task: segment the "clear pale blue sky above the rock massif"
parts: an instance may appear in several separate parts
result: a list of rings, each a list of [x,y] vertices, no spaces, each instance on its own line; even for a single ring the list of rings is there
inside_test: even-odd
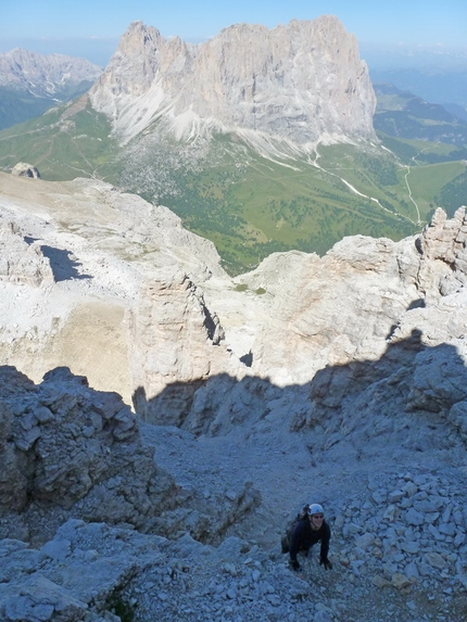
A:
[[[467,50],[466,0],[0,0],[0,52],[59,52],[103,65],[137,20],[164,37],[201,41],[239,22],[273,28],[325,14],[337,15],[361,43]]]

